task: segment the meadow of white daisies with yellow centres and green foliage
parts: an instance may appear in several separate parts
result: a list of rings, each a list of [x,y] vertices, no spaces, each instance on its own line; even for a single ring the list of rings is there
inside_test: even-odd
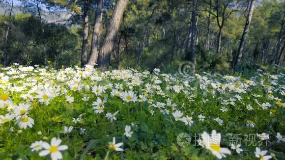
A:
[[[285,74],[261,70],[14,65],[0,72],[0,159],[284,160],[284,97]]]

